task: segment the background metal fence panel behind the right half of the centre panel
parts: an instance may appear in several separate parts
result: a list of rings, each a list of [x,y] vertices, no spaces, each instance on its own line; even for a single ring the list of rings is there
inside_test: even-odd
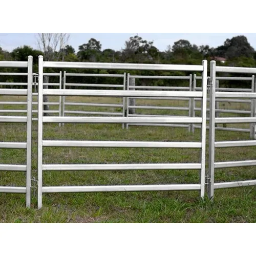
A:
[[[175,86],[136,86],[136,81],[135,79],[168,79],[168,80],[174,80],[174,79],[179,79],[179,80],[188,80],[189,86],[188,87],[175,87]],[[166,90],[166,91],[191,91],[192,89],[192,81],[193,81],[193,76],[142,76],[142,75],[130,75],[127,74],[127,90]],[[131,85],[133,83],[134,85]],[[163,100],[164,98],[156,98],[156,97],[141,97],[141,98],[136,98],[136,99],[161,99]],[[169,98],[165,98],[166,100],[169,100]],[[178,111],[185,111],[188,113],[187,116],[191,117],[192,112],[191,112],[191,105],[193,104],[193,98],[171,98],[171,100],[185,100],[188,101],[188,106],[187,107],[174,107],[174,106],[153,106],[153,105],[136,105],[135,99],[134,98],[127,98],[126,99],[126,109],[127,109],[127,116],[159,116],[159,115],[143,115],[143,114],[130,114],[130,110],[136,110],[136,109],[144,109],[144,110],[178,110]],[[133,103],[131,103],[133,101]],[[166,115],[167,116],[167,115]],[[170,115],[169,115],[170,116]],[[146,126],[161,126],[161,124],[154,124],[154,123],[149,123],[149,124],[142,124],[142,123],[134,123],[126,124],[126,129],[129,128],[129,125],[146,125]],[[164,126],[172,126],[172,127],[188,127],[188,131],[191,131],[191,127],[193,127],[191,124],[164,124]]]

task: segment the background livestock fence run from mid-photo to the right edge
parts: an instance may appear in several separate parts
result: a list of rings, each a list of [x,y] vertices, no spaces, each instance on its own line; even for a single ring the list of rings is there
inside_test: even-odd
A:
[[[135,79],[169,79],[169,80],[177,80],[177,79],[183,79],[183,80],[189,80],[189,86],[188,87],[177,87],[177,86],[137,86]],[[200,91],[202,90],[202,87],[197,87],[197,80],[202,80],[201,76],[189,75],[189,76],[141,76],[141,75],[130,75],[127,74],[127,90],[184,90],[184,91]],[[249,88],[219,88],[219,81],[249,81],[250,82],[250,89]],[[217,91],[227,91],[227,92],[255,92],[255,76],[252,75],[251,77],[217,77],[216,79],[216,90]],[[156,99],[159,98],[153,97],[153,98],[146,98],[146,97],[138,97],[137,99]],[[127,98],[126,105],[127,109],[127,116],[137,116],[137,117],[153,117],[153,116],[161,116],[160,114],[138,114],[135,113],[135,110],[168,110],[168,111],[176,111],[176,113],[180,113],[181,111],[186,113],[186,116],[189,117],[195,117],[197,116],[197,112],[201,112],[201,106],[197,105],[197,103],[201,99],[199,98],[165,98],[166,100],[171,102],[177,102],[178,104],[180,101],[188,101],[188,105],[184,106],[177,106],[177,103],[175,106],[159,106],[159,105],[152,105],[150,103],[139,105],[136,104],[136,100],[134,98]],[[207,98],[207,102],[209,102],[209,98]],[[226,103],[221,106],[220,102]],[[169,103],[169,102],[168,102]],[[230,108],[227,108],[227,105],[230,104]],[[237,104],[237,105],[236,105]],[[242,106],[241,106],[242,105]],[[254,107],[253,107],[254,106]],[[238,109],[238,108],[242,108]],[[245,100],[245,99],[216,99],[216,117],[220,116],[220,113],[225,113],[228,115],[232,114],[238,114],[238,115],[248,115],[253,116],[253,113],[255,112],[255,104],[253,100]],[[165,115],[167,116],[167,115]],[[168,114],[168,116],[172,116]],[[199,115],[200,116],[200,115]],[[209,108],[207,108],[207,121],[209,121]],[[174,126],[174,127],[188,127],[188,131],[195,133],[195,129],[200,129],[200,125],[197,124],[126,124],[126,128],[129,127],[129,125],[151,125],[151,126]],[[209,125],[206,126],[206,129],[209,129]],[[219,124],[216,125],[216,130],[223,130],[223,131],[233,131],[233,132],[248,132],[250,133],[250,138],[254,138],[255,136],[255,127],[254,124],[251,124],[249,128],[247,127],[226,127],[226,124],[221,127]]]

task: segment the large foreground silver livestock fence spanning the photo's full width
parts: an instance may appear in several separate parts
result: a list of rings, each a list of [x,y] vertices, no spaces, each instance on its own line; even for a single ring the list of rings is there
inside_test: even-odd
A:
[[[207,193],[209,198],[214,197],[214,190],[220,188],[238,187],[238,186],[252,186],[256,185],[256,180],[245,180],[245,181],[227,181],[227,182],[216,182],[215,181],[215,170],[222,168],[234,168],[234,167],[244,167],[244,166],[254,166],[256,165],[256,160],[243,160],[243,161],[225,161],[216,162],[215,153],[216,148],[227,148],[227,147],[246,147],[246,146],[256,146],[255,140],[247,141],[217,141],[215,131],[219,128],[218,124],[241,124],[249,123],[251,134],[255,134],[255,123],[256,123],[256,113],[255,113],[255,79],[256,68],[234,68],[234,67],[219,67],[216,66],[215,61],[210,63],[210,77],[207,77],[207,61],[203,60],[202,65],[150,65],[150,64],[131,64],[131,63],[87,63],[87,62],[54,62],[54,61],[44,61],[42,56],[39,56],[39,70],[38,70],[38,83],[33,82],[33,71],[32,71],[32,57],[29,56],[28,61],[0,61],[0,68],[24,68],[27,69],[27,82],[24,84],[26,89],[16,89],[16,88],[1,88],[0,95],[8,96],[27,96],[26,106],[27,110],[24,112],[26,116],[0,116],[1,123],[26,123],[27,124],[27,141],[26,142],[8,142],[1,141],[0,148],[12,148],[12,149],[23,149],[26,150],[26,164],[2,164],[0,156],[0,171],[19,171],[26,172],[26,186],[15,187],[15,186],[0,186],[1,193],[22,193],[26,194],[26,205],[30,207],[31,202],[31,143],[32,143],[32,101],[33,101],[33,86],[38,85],[38,130],[37,132],[37,201],[38,208],[42,207],[43,194],[48,193],[86,193],[86,192],[106,192],[106,191],[160,191],[160,190],[198,190],[200,191],[200,196],[203,198],[205,195],[205,187],[207,188]],[[57,69],[102,69],[102,70],[159,70],[159,71],[185,71],[185,72],[201,72],[202,76],[198,79],[201,80],[202,87],[196,87],[197,77],[194,75],[194,81],[192,90],[185,88],[179,88],[179,90],[163,90],[153,88],[145,88],[147,90],[131,90],[139,89],[135,85],[129,84],[131,79],[136,79],[136,77],[127,74],[127,90],[124,90],[124,85],[121,84],[122,88],[113,88],[119,90],[84,90],[84,89],[62,89],[59,84],[54,84],[55,88],[49,89],[47,86],[50,85],[44,82],[44,77],[49,76],[49,73],[44,73],[44,68],[57,68]],[[236,73],[236,74],[247,74],[251,77],[243,80],[251,82],[251,89],[233,91],[231,88],[222,90],[218,88],[218,81],[221,79],[226,79],[227,77],[221,78],[216,76],[216,74],[223,73]],[[25,74],[25,73],[24,73]],[[60,73],[61,75],[61,73]],[[125,80],[126,73],[123,74],[123,81]],[[64,75],[65,77],[65,75]],[[188,79],[188,78],[186,78]],[[189,81],[191,76],[189,76]],[[230,78],[228,78],[230,79]],[[238,78],[232,78],[238,79]],[[242,78],[239,78],[242,79]],[[60,79],[61,80],[61,79]],[[124,82],[125,84],[125,82]],[[4,84],[5,86],[5,84]],[[7,84],[10,86],[10,84]],[[17,84],[15,85],[17,86]],[[67,86],[67,83],[66,83]],[[68,87],[68,86],[67,86]],[[131,88],[132,87],[132,88]],[[135,87],[135,88],[134,88]],[[216,88],[217,87],[217,88]],[[70,87],[72,88],[72,86]],[[210,88],[209,96],[207,98],[207,88]],[[172,88],[173,89],[173,88]],[[221,90],[220,90],[221,89]],[[119,116],[96,116],[97,114],[92,113],[93,116],[45,116],[44,112],[44,97],[45,96],[55,96],[58,99],[61,97],[112,97],[119,98],[122,102],[122,111],[127,107],[127,115]],[[129,104],[130,99],[151,99],[158,98],[161,100],[168,99],[190,99],[191,111],[189,112],[191,116],[133,116],[129,114]],[[195,106],[195,101],[201,101],[201,109],[196,106],[195,111],[198,111],[197,116],[193,107]],[[236,112],[237,114],[249,114],[249,117],[220,117],[217,114],[221,113],[218,102],[220,100],[236,100],[236,102],[249,103],[251,111],[250,112]],[[61,100],[62,101],[62,100]],[[207,101],[209,101],[209,106],[207,107]],[[65,100],[63,100],[65,102]],[[69,102],[69,101],[68,101]],[[128,103],[127,103],[128,102]],[[232,102],[232,101],[230,101]],[[58,102],[57,102],[58,103]],[[90,104],[90,103],[89,103]],[[207,128],[207,110],[209,111],[209,165],[206,172],[206,128]],[[187,111],[187,109],[186,109]],[[237,110],[236,110],[237,111]],[[3,112],[2,112],[3,113]],[[9,112],[8,112],[9,113]],[[14,112],[16,113],[16,112]],[[227,112],[230,114],[230,112]],[[73,114],[73,113],[71,113]],[[232,113],[231,113],[232,114]],[[43,125],[46,123],[115,123],[115,124],[142,124],[142,125],[187,125],[190,124],[191,129],[201,128],[201,138],[200,141],[187,142],[162,142],[162,141],[87,141],[87,140],[47,140],[45,139],[43,130]],[[226,130],[231,131],[231,130]],[[238,130],[233,130],[238,132]],[[75,135],[74,130],[74,135]],[[240,132],[240,131],[239,131]],[[248,131],[246,131],[248,132]],[[44,138],[44,139],[43,139]],[[201,150],[201,159],[198,163],[124,163],[124,164],[44,164],[44,147],[96,147],[96,148],[197,148]],[[11,159],[12,160],[12,159]],[[99,186],[44,186],[43,185],[43,172],[47,171],[75,171],[75,170],[199,170],[199,183],[196,184],[156,184],[156,185],[99,185]],[[2,184],[1,184],[2,185]]]

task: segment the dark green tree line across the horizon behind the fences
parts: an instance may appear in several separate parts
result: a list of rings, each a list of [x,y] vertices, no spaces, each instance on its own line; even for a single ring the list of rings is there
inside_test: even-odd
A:
[[[50,34],[50,33],[49,33]],[[57,37],[56,37],[57,38]],[[201,65],[203,59],[209,62],[216,59],[218,66],[233,66],[233,67],[255,67],[256,66],[256,51],[249,44],[247,38],[243,35],[226,39],[224,44],[212,48],[209,45],[192,45],[188,40],[178,40],[173,46],[167,46],[165,51],[160,51],[154,46],[153,41],[144,40],[136,35],[130,37],[124,42],[124,48],[115,51],[113,49],[102,49],[100,41],[91,38],[87,43],[79,46],[78,51],[71,45],[63,46],[60,49],[51,47],[44,43],[44,48],[41,50],[33,49],[30,46],[17,47],[11,52],[8,52],[0,47],[0,60],[16,60],[26,61],[29,55],[33,56],[34,72],[38,69],[38,55],[43,55],[46,60],[52,61],[74,61],[74,62],[119,62],[119,63],[155,63],[155,64],[184,64],[184,65]],[[49,57],[50,56],[50,57]],[[50,59],[49,59],[50,58]],[[220,60],[225,60],[221,62]],[[45,72],[64,71],[61,69],[46,69]],[[122,74],[125,70],[81,70],[69,69],[69,73],[102,73],[102,74]],[[22,69],[0,69],[0,72],[24,72]],[[167,71],[129,71],[133,75],[165,75],[165,76],[188,76],[187,72],[167,72]],[[201,75],[200,73],[196,73]],[[223,74],[228,76],[228,74]],[[232,74],[232,76],[239,76]],[[245,75],[243,75],[245,76]],[[249,75],[247,75],[249,76]],[[4,82],[23,82],[26,77],[10,77],[1,76],[0,81]],[[105,77],[68,77],[67,82],[74,83],[117,83],[122,81],[118,78]],[[50,82],[57,82],[58,78],[51,77]],[[136,85],[165,86],[173,84],[168,80],[136,80]],[[187,81],[177,80],[176,86],[184,86]],[[240,86],[250,87],[248,82],[231,81],[225,82],[225,86]],[[188,86],[188,84],[186,84]]]

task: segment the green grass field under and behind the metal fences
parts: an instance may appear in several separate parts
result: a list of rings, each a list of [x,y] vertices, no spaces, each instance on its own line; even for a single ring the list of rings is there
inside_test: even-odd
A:
[[[17,99],[18,98],[18,99]],[[82,99],[82,100],[81,100]],[[24,97],[0,97],[0,101],[26,101]],[[51,98],[57,101],[58,97]],[[78,102],[121,103],[121,99],[73,97]],[[71,101],[67,97],[66,101]],[[186,101],[137,100],[138,105],[188,105]],[[223,103],[220,103],[220,105]],[[18,106],[1,105],[3,109]],[[35,106],[34,106],[35,107]],[[226,109],[249,110],[248,104],[226,104]],[[69,110],[112,111],[111,108],[69,106]],[[26,109],[20,106],[19,109]],[[58,106],[50,106],[50,110]],[[121,109],[117,111],[121,112]],[[137,110],[136,114],[187,115],[185,111]],[[197,113],[199,115],[200,113]],[[1,114],[4,115],[4,114]],[[7,114],[5,114],[7,115]],[[17,114],[12,114],[17,115]],[[222,116],[227,116],[223,115]],[[232,115],[236,116],[236,115]],[[238,115],[237,115],[238,116]],[[242,116],[242,115],[240,115]],[[230,125],[228,125],[230,126]],[[234,127],[247,127],[248,124]],[[37,124],[33,122],[32,177],[37,177]],[[129,126],[121,124],[44,125],[44,139],[123,140],[123,141],[200,141],[200,130],[187,128]],[[249,133],[217,131],[216,140],[248,140]],[[208,140],[208,132],[207,132]],[[26,125],[0,124],[0,141],[26,141]],[[255,147],[218,148],[216,161],[255,159]],[[207,153],[208,154],[208,148]],[[208,155],[206,156],[208,159]],[[0,163],[25,164],[25,150],[0,150]],[[200,150],[150,148],[44,148],[44,163],[186,163],[200,162]],[[255,167],[217,169],[215,180],[255,179]],[[0,186],[25,186],[24,173],[0,172]],[[44,186],[121,185],[199,183],[198,170],[45,172]],[[3,223],[252,223],[256,221],[256,189],[241,187],[215,190],[215,200],[201,200],[198,191],[156,191],[131,193],[44,194],[43,207],[37,210],[36,190],[32,207],[27,209],[25,195],[0,194],[0,222]]]

